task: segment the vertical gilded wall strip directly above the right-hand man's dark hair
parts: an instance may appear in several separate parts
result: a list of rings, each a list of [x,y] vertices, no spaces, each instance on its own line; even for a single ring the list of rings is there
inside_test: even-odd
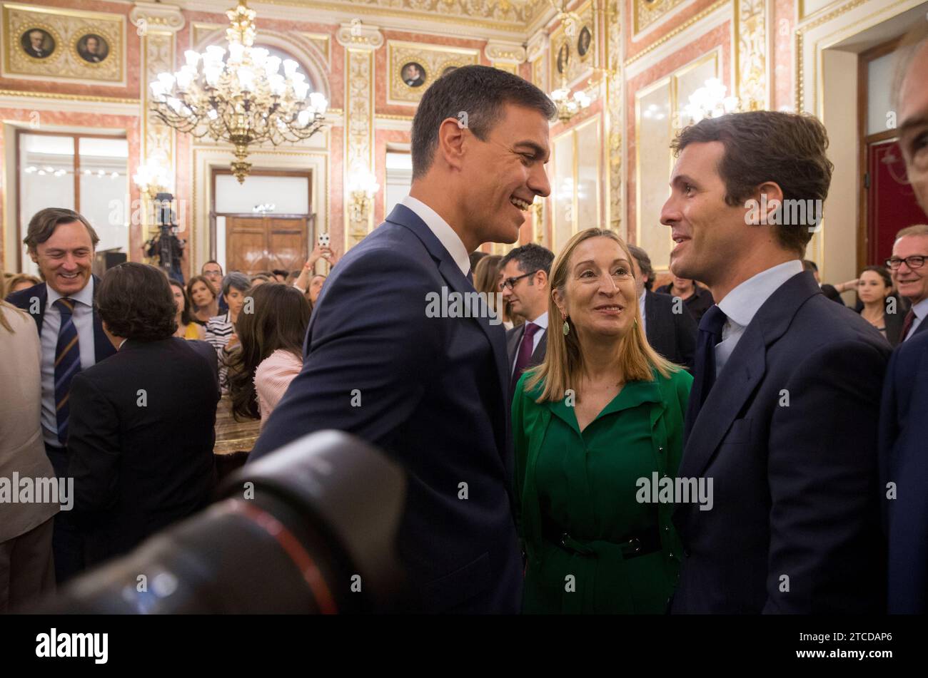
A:
[[[735,0],[736,93],[742,110],[764,110],[767,96],[767,3]]]

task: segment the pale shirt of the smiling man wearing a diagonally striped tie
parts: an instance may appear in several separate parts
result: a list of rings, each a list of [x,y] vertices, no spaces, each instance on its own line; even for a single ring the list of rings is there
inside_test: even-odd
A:
[[[58,418],[55,409],[55,353],[58,350],[58,329],[61,327],[61,313],[55,306],[64,295],[45,283],[48,300],[45,303],[45,317],[42,320],[42,434],[45,443],[60,447],[58,441]],[[84,285],[76,295],[69,295],[74,300],[74,328],[77,330],[77,343],[81,350],[81,370],[92,367],[97,362],[97,350],[94,345],[94,279]]]

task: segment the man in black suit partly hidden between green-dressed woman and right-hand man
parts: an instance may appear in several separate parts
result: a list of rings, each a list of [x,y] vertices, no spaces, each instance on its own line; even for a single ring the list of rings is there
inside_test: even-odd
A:
[[[671,295],[651,292],[654,269],[651,257],[640,247],[628,245],[638,286],[638,307],[648,343],[664,358],[693,368],[693,349],[696,347],[696,321],[683,300],[675,301]]]

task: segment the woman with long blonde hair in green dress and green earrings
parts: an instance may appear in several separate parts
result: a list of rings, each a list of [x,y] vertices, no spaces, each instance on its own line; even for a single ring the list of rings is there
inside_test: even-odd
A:
[[[651,487],[677,473],[692,377],[648,345],[631,260],[588,229],[552,265],[547,355],[512,401],[524,612],[662,613],[677,583]]]

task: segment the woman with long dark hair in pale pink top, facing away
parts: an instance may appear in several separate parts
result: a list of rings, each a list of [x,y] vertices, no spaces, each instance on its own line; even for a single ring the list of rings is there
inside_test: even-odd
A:
[[[267,284],[251,290],[253,313],[239,317],[241,350],[229,363],[229,393],[235,418],[261,419],[277,407],[293,378],[303,369],[303,338],[310,308],[290,285]]]

